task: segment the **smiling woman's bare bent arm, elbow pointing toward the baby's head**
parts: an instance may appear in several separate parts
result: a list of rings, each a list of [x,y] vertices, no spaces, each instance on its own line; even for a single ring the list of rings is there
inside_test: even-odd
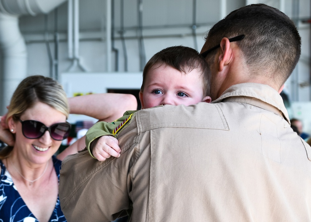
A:
[[[68,98],[70,113],[91,116],[100,121],[113,121],[126,110],[137,109],[137,100],[130,94],[105,93]],[[85,136],[67,147],[57,158],[63,160],[67,155],[77,153],[86,147]],[[118,149],[117,149],[118,150]],[[107,150],[109,155],[118,156],[115,150]]]

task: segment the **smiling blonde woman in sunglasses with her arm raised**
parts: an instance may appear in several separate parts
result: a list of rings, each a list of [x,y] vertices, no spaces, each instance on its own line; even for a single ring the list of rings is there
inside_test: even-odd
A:
[[[82,137],[54,155],[70,131],[66,122],[69,107],[70,113],[113,121],[126,110],[137,109],[137,102],[127,94],[93,94],[67,100],[62,86],[51,78],[24,79],[0,123],[0,140],[9,145],[0,151],[3,221],[66,221],[58,198],[59,167],[68,154],[85,147]],[[107,152],[107,157],[119,155],[114,150]]]

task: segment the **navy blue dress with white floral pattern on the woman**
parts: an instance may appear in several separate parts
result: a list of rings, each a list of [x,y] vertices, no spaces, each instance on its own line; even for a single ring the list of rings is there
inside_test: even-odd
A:
[[[58,176],[62,162],[52,156],[54,168]],[[39,222],[26,206],[20,194],[14,186],[10,173],[0,160],[0,222]],[[65,222],[65,216],[60,208],[59,197],[57,198],[54,211],[49,222]]]

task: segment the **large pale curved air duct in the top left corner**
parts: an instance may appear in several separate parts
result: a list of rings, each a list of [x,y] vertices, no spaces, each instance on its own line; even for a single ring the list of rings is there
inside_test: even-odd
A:
[[[19,82],[27,76],[27,51],[19,30],[21,15],[49,13],[66,0],[0,0],[0,50],[2,53],[1,113]]]

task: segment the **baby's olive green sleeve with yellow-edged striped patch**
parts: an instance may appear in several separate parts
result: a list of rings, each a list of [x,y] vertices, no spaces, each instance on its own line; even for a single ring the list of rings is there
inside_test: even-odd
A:
[[[85,144],[86,148],[89,151],[89,154],[95,158],[91,152],[90,145],[91,143],[101,137],[101,136],[114,136],[116,138],[116,132],[114,133],[114,130],[120,126],[120,124],[124,123],[125,120],[127,120],[135,111],[126,111],[124,115],[115,120],[112,123],[107,122],[98,122],[95,123],[87,132],[86,132],[86,139]],[[95,158],[96,159],[96,158]]]

